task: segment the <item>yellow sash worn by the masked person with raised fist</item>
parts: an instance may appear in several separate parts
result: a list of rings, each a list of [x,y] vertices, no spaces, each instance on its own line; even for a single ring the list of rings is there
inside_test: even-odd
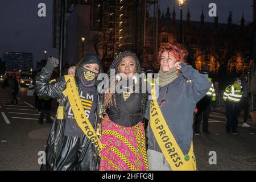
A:
[[[84,132],[86,137],[89,138],[90,142],[94,144],[97,148],[98,155],[101,155],[102,143],[95,133],[92,124],[84,113],[84,108],[82,107],[82,101],[79,96],[79,91],[77,90],[75,77],[65,75],[65,80],[67,82],[67,88],[63,91],[64,96],[68,96],[69,104],[71,105],[73,114],[75,115],[77,125]]]

